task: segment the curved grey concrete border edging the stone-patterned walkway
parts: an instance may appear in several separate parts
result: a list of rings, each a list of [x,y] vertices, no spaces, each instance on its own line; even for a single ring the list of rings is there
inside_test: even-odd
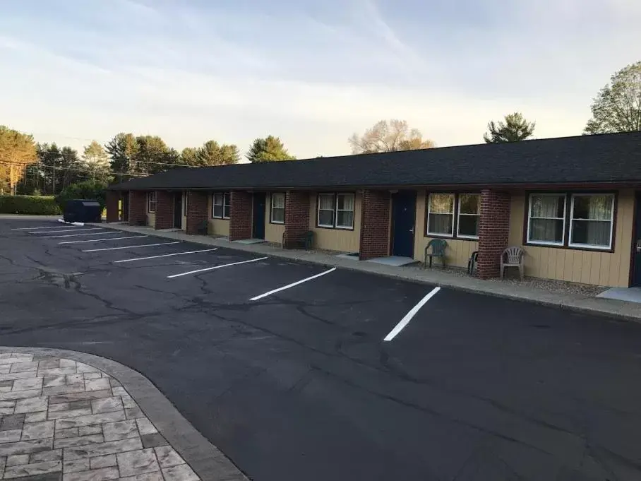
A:
[[[131,394],[164,439],[191,465],[203,481],[248,481],[248,478],[224,454],[200,434],[174,408],[143,374],[112,361],[85,352],[50,348],[0,347],[0,352],[24,352],[34,355],[64,357],[90,366],[117,379]]]

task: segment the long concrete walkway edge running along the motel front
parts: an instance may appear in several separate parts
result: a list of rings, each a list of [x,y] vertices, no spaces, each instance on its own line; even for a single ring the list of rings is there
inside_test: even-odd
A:
[[[585,297],[582,295],[557,294],[546,292],[544,290],[534,290],[527,287],[480,280],[477,278],[464,278],[448,273],[439,273],[435,270],[404,271],[402,268],[383,266],[376,263],[359,262],[350,259],[341,259],[326,254],[316,254],[306,251],[284,251],[265,244],[236,244],[229,242],[227,239],[188,235],[184,232],[163,232],[153,230],[150,227],[134,227],[124,224],[104,223],[93,225],[125,232],[138,232],[140,234],[148,234],[166,239],[193,242],[194,244],[213,245],[217,247],[224,247],[226,249],[234,249],[236,251],[268,255],[279,259],[289,259],[290,261],[313,263],[319,266],[339,267],[349,271],[381,275],[413,283],[440,285],[441,287],[448,287],[448,289],[452,290],[489,295],[492,297],[502,297],[504,299],[520,302],[530,302],[541,306],[580,312],[581,314],[606,316],[622,321],[641,322],[641,305],[634,304],[632,302]]]

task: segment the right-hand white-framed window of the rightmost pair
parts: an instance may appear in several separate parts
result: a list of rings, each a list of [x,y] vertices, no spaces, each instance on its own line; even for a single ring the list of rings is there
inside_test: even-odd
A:
[[[572,194],[570,247],[611,249],[613,194]]]

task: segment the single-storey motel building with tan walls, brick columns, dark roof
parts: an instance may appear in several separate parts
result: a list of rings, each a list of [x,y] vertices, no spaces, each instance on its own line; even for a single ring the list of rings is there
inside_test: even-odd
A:
[[[169,170],[115,184],[107,222],[424,260],[478,252],[499,275],[506,247],[525,275],[641,286],[641,132]]]

